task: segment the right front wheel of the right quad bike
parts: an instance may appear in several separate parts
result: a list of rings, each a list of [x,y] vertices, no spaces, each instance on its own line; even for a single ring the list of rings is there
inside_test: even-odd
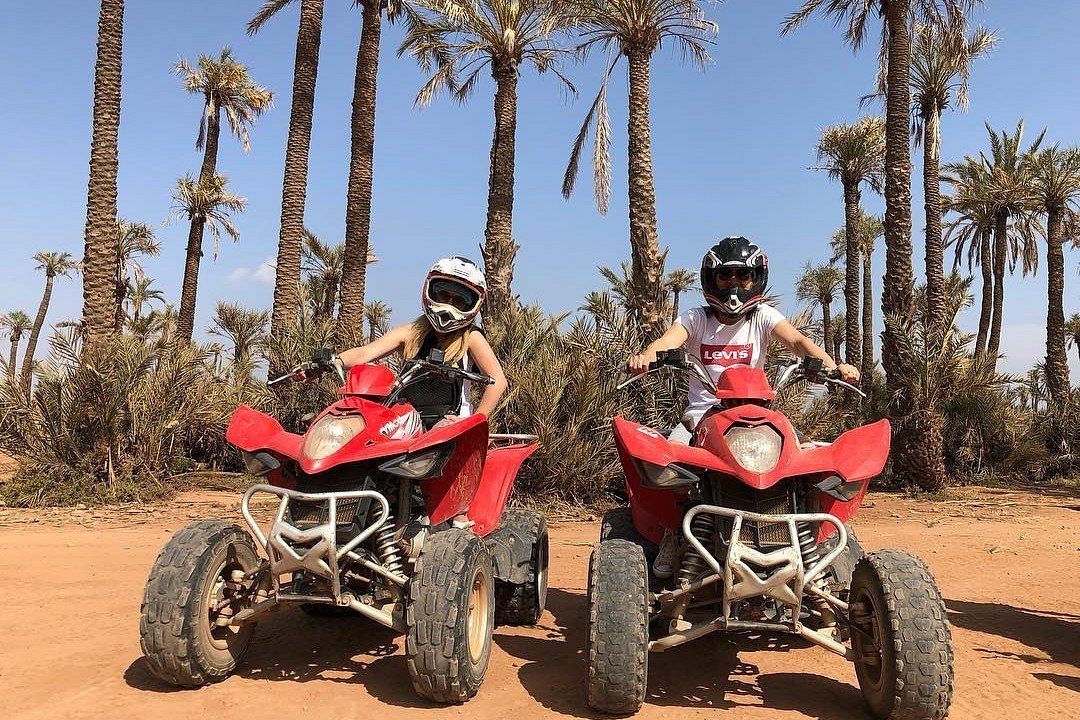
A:
[[[941,720],[953,701],[953,635],[930,570],[900,551],[870,553],[851,580],[855,675],[878,720]]]

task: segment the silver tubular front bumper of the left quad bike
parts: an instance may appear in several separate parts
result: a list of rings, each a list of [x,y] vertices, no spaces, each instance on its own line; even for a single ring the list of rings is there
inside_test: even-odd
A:
[[[252,514],[252,498],[256,494],[271,494],[280,499],[278,510],[264,532],[259,522]],[[379,505],[381,513],[378,519],[363,527],[352,539],[338,544],[339,506],[347,501],[368,500]],[[286,519],[289,502],[325,504],[326,521],[308,527],[297,527]],[[364,602],[341,587],[341,567],[346,563],[360,565],[370,572],[381,575],[392,585],[404,587],[408,579],[387,569],[383,565],[364,557],[357,548],[380,530],[390,520],[390,503],[387,498],[375,490],[349,490],[341,492],[299,492],[273,485],[254,485],[244,493],[240,503],[240,512],[248,529],[259,546],[266,553],[271,586],[270,599],[253,606],[235,619],[232,624],[251,620],[252,615],[261,614],[283,602],[302,602],[338,606],[351,608],[360,614],[374,620],[380,625],[405,631],[404,613],[400,602],[389,602],[379,607],[373,602]],[[292,590],[281,584],[281,576],[295,572],[306,572],[327,581],[328,595],[308,595]]]

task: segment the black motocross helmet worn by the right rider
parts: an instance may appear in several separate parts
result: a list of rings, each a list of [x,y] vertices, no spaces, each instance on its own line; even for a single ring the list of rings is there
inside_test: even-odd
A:
[[[743,289],[740,284],[719,286],[719,277],[733,270],[742,271],[740,280],[747,276],[753,280],[750,288]],[[769,258],[745,237],[725,237],[701,259],[701,290],[710,307],[724,318],[739,320],[748,315],[765,298],[768,282]]]

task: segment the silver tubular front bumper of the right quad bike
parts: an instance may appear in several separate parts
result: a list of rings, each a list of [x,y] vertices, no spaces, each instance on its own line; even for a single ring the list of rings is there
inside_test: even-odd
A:
[[[718,559],[699,538],[691,526],[699,515],[730,520],[730,532],[726,539],[727,554]],[[788,542],[770,552],[761,552],[743,541],[743,524],[753,521],[758,528],[782,526],[786,528]],[[836,528],[837,541],[832,549],[815,554],[815,559],[807,567],[804,551],[799,545],[799,526],[826,522]],[[692,582],[683,581],[673,590],[664,590],[656,596],[662,615],[672,619],[670,631],[664,637],[649,642],[649,650],[662,652],[694,638],[716,630],[780,631],[798,635],[814,644],[852,660],[852,650],[837,640],[836,625],[823,629],[807,627],[800,622],[805,600],[812,599],[816,608],[826,608],[846,615],[848,603],[828,592],[823,581],[824,573],[847,547],[848,532],[834,515],[828,513],[794,513],[762,515],[732,510],[718,505],[696,505],[683,518],[683,536],[689,544],[687,553],[697,553],[712,573],[699,576]],[[680,620],[680,609],[685,609],[694,596],[707,585],[723,583],[723,612],[715,620],[690,624]],[[770,598],[789,610],[791,620],[758,622],[739,620],[732,609],[741,600]]]

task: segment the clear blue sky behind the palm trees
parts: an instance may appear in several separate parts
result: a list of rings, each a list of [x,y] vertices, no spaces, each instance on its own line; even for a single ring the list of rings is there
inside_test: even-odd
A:
[[[0,232],[6,261],[0,271],[0,311],[18,308],[32,315],[42,276],[31,256],[39,250],[82,254],[98,3],[4,4],[0,63],[9,72],[0,110]],[[228,44],[255,81],[276,94],[275,107],[252,131],[251,152],[222,136],[219,172],[248,205],[235,217],[240,242],[224,242],[216,261],[207,239],[197,332],[205,329],[215,299],[269,308],[273,293],[265,262],[276,253],[297,10],[286,9],[249,38],[244,27],[260,4],[126,3],[119,210],[157,228],[163,252],[145,264],[171,301],[178,302],[187,226],[162,222],[171,215],[176,178],[197,172],[201,160],[194,149],[201,98],[185,93],[171,68],[180,57],[194,63]],[[706,3],[706,15],[719,26],[707,70],[684,63],[665,46],[651,77],[657,206],[669,269],[697,268],[717,237],[746,235],[768,252],[771,284],[784,296],[781,309],[788,314],[796,310],[789,289],[794,277],[805,262],[827,258],[827,241],[843,220],[839,185],[808,169],[813,148],[823,127],[869,111],[860,109],[859,97],[872,89],[877,37],[853,54],[831,23],[813,18],[781,38],[782,18],[798,4]],[[987,3],[973,22],[996,29],[1001,43],[973,68],[968,113],[943,119],[943,159],[984,149],[984,121],[1012,128],[1023,118],[1028,137],[1047,127],[1049,141],[1080,141],[1080,87],[1069,51],[1080,3]],[[306,222],[327,241],[339,240],[345,225],[359,35],[360,11],[351,0],[326,0]],[[435,258],[480,259],[494,93],[485,77],[465,105],[440,97],[429,108],[415,108],[413,98],[426,78],[411,59],[395,56],[401,37],[397,26],[382,36],[372,229],[380,262],[368,272],[368,299],[388,302],[395,322],[419,311],[419,283]],[[629,257],[624,71],[609,89],[615,179],[607,216],[593,205],[588,167],[569,202],[559,194],[570,144],[603,66],[602,55],[567,66],[578,98],[554,77],[538,77],[531,69],[523,70],[519,83],[514,236],[522,249],[514,290],[550,312],[575,309],[586,293],[602,287],[597,266],[613,267]],[[918,247],[918,153],[913,160]],[[880,198],[868,191],[864,205],[874,213],[882,208]],[[1077,258],[1074,252],[1066,259],[1066,314],[1080,311]],[[881,249],[874,262],[879,273]],[[920,267],[917,257],[917,272]],[[879,291],[880,275],[875,284]],[[59,281],[50,322],[78,316],[81,302],[78,281]],[[1044,318],[1044,274],[1010,277],[1004,369],[1023,371],[1041,357]],[[964,315],[968,329],[975,322],[973,313]],[[1077,381],[1080,366],[1075,353],[1071,357]]]

